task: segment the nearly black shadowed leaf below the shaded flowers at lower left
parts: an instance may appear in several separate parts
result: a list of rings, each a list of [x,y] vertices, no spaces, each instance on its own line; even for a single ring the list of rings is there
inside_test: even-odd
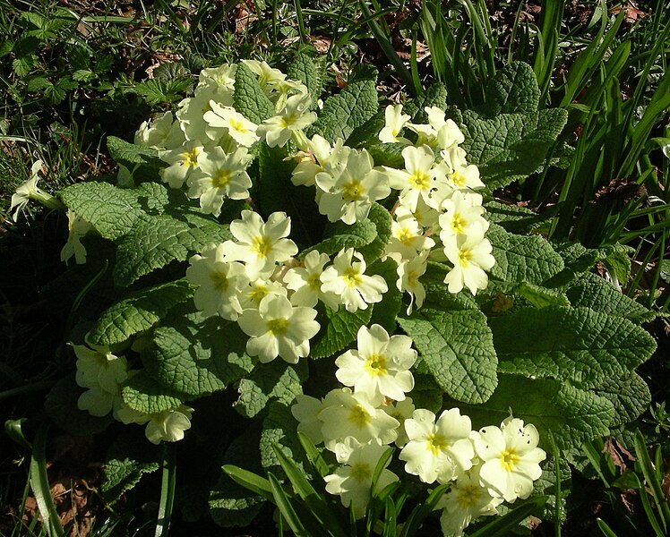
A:
[[[60,379],[47,394],[44,403],[47,415],[58,427],[70,434],[85,436],[106,430],[114,422],[114,418],[111,414],[97,418],[79,410],[77,401],[83,392],[84,388],[80,388],[74,380],[74,373]]]

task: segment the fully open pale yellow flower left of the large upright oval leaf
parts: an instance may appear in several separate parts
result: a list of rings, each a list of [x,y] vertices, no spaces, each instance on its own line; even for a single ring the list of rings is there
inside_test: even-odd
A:
[[[335,361],[335,376],[354,391],[365,392],[373,405],[384,397],[402,401],[414,388],[409,368],[417,361],[417,351],[407,336],[391,336],[380,325],[362,326],[356,336],[356,349],[341,354]]]

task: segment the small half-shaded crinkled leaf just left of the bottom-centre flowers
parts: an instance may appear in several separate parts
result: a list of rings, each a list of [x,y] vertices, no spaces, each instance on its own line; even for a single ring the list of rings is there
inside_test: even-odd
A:
[[[261,431],[261,465],[267,472],[271,472],[279,479],[283,479],[285,473],[279,465],[279,459],[272,449],[276,445],[281,451],[293,459],[297,467],[305,472],[309,463],[305,457],[305,449],[297,438],[297,422],[293,417],[288,405],[272,401],[268,405],[268,415],[262,422]],[[309,475],[306,474],[309,478]]]

